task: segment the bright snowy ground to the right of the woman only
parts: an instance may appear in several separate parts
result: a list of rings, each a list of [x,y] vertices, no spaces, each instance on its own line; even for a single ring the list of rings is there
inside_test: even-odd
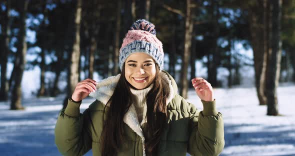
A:
[[[267,116],[255,88],[214,89],[217,109],[223,114],[225,147],[220,155],[295,155],[295,85],[277,89],[282,116]],[[188,100],[193,102],[194,92]],[[202,109],[196,100],[197,108]]]

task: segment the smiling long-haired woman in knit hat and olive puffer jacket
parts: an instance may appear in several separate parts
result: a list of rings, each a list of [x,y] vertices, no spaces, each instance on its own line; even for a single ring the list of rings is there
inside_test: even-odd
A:
[[[198,111],[177,94],[163,71],[162,43],[154,25],[138,19],[119,50],[121,73],[96,82],[77,83],[60,111],[55,143],[61,154],[218,155],[224,146],[222,114],[205,79],[191,80],[203,103]],[[96,100],[81,114],[86,96]]]

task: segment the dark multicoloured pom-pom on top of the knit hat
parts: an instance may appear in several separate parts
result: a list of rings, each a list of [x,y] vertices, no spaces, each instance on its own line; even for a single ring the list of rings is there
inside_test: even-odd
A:
[[[130,30],[144,30],[151,34],[156,34],[154,25],[145,20],[145,19],[137,19],[130,27]]]

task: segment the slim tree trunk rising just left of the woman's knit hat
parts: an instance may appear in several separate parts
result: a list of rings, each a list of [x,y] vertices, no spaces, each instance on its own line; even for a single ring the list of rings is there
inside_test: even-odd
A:
[[[113,48],[113,69],[112,74],[116,75],[119,73],[119,49],[120,49],[120,26],[121,25],[121,0],[117,1],[117,12],[116,12],[116,28],[114,32],[114,48]]]

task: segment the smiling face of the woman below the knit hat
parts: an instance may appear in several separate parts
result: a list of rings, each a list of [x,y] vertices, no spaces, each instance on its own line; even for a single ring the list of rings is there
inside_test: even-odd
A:
[[[130,54],[125,61],[125,78],[136,89],[149,86],[155,77],[155,62],[148,54]]]

